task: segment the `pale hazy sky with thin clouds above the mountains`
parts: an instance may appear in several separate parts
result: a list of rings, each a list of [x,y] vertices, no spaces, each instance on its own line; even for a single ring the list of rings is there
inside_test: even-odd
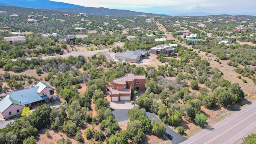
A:
[[[256,0],[51,0],[89,7],[176,14],[256,12]]]

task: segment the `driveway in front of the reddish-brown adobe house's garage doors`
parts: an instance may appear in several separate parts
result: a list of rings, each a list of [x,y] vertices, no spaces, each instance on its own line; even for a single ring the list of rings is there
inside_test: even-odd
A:
[[[129,122],[128,110],[138,108],[131,104],[131,101],[110,102],[110,108],[118,124],[125,125]]]

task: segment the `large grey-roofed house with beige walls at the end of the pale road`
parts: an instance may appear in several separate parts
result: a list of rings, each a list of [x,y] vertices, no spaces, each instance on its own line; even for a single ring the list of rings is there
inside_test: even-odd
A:
[[[116,60],[125,60],[126,62],[133,62],[136,63],[140,61],[141,58],[144,58],[147,56],[147,52],[143,50],[127,50],[126,52],[123,53],[116,53],[115,59]]]

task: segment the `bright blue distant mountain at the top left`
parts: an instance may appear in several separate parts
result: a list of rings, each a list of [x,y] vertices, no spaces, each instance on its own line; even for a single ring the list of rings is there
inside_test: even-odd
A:
[[[82,7],[64,2],[52,2],[50,0],[0,0],[0,6],[18,6],[23,8],[77,8]]]

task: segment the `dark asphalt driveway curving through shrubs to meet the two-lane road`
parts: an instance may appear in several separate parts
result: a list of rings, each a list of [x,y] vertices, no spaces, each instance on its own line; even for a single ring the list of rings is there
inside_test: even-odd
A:
[[[152,118],[155,118],[157,120],[157,122],[162,122],[155,114],[153,114],[151,112],[146,112],[146,114],[150,120],[152,120]],[[168,134],[169,137],[172,137],[172,138],[169,138],[172,141],[172,144],[179,144],[179,143],[183,142],[184,140],[187,140],[187,138],[181,136],[177,132],[174,132],[174,130],[172,130],[166,124],[165,124],[165,127],[166,127],[166,134]]]

